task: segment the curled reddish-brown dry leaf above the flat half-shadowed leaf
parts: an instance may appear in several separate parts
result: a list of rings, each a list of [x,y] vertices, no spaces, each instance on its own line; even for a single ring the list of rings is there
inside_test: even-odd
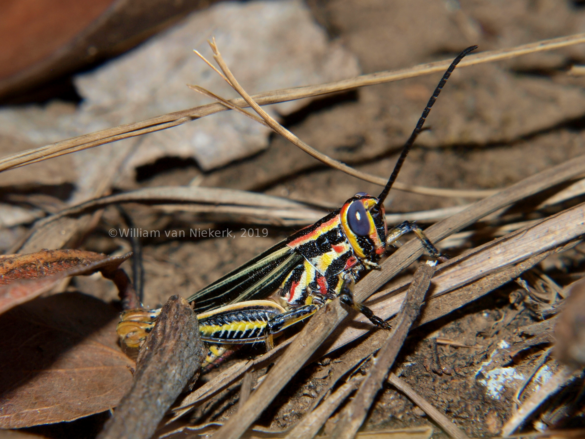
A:
[[[0,256],[0,314],[51,290],[68,276],[91,275],[101,270],[121,291],[118,266],[132,253],[106,256],[81,250],[43,250],[27,255]],[[118,276],[116,279],[115,276]]]

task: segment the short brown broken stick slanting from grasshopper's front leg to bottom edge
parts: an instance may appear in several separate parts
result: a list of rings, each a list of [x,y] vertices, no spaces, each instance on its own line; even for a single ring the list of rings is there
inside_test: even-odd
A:
[[[356,396],[340,414],[340,419],[331,435],[332,439],[353,439],[357,430],[362,426],[371,404],[374,402],[374,397],[381,389],[398,352],[402,348],[412,323],[418,317],[433,273],[435,273],[435,266],[429,264],[422,264],[414,273],[414,278],[406,293],[406,298],[402,302],[393,330],[381,345],[380,351],[378,351],[370,370],[366,373]],[[459,436],[458,439],[463,438],[464,435]]]

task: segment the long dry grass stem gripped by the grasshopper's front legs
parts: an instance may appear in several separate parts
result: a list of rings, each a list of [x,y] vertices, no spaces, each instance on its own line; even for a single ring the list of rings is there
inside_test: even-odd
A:
[[[459,231],[473,224],[480,218],[502,207],[510,205],[522,198],[534,195],[546,188],[573,179],[585,172],[585,156],[576,157],[553,166],[543,172],[528,177],[495,196],[477,201],[463,212],[426,229],[432,242]],[[380,286],[388,282],[402,269],[410,265],[422,254],[422,245],[417,239],[407,242],[381,264],[379,271],[370,272],[356,284],[355,297],[363,301],[373,294]],[[246,403],[245,414],[236,413],[216,433],[215,439],[237,439],[246,431],[252,422],[276,397],[278,392],[291,377],[304,365],[304,362],[318,349],[335,327],[347,317],[347,311],[339,300],[334,300],[319,310],[309,323],[297,335],[295,342],[284,353],[280,361],[271,369],[262,385],[254,392]]]

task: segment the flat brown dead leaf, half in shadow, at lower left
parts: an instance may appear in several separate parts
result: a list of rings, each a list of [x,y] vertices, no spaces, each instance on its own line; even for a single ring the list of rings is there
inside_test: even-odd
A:
[[[0,321],[0,428],[72,421],[115,407],[135,364],[118,346],[116,310],[63,293]]]

